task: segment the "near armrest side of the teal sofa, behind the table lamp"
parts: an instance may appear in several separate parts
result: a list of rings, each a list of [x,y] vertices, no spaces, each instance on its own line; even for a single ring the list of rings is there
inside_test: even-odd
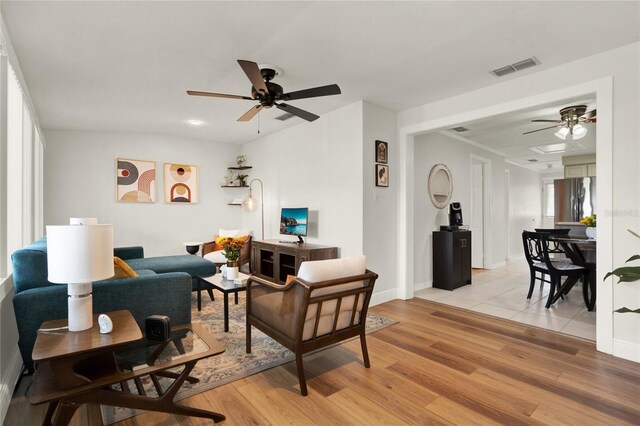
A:
[[[67,286],[33,288],[15,295],[13,306],[18,325],[18,346],[27,368],[33,368],[31,353],[43,322],[67,318]],[[93,284],[93,312],[126,309],[144,330],[149,315],[167,315],[174,325],[191,322],[191,276],[171,272]],[[94,324],[95,326],[95,324]]]

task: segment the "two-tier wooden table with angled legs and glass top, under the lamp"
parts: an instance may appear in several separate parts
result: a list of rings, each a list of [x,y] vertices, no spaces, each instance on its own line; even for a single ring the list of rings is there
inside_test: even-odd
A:
[[[150,342],[129,311],[108,315],[113,331],[100,334],[97,315],[94,327],[80,332],[39,332],[33,349],[36,372],[29,390],[32,404],[49,403],[43,424],[67,425],[85,403],[180,414],[221,422],[225,416],[187,407],[173,398],[185,380],[197,382],[189,373],[203,358],[224,352],[224,347],[201,324],[173,327],[165,342]],[[41,329],[57,329],[67,320],[47,321]],[[180,373],[167,371],[184,365]],[[158,397],[147,396],[140,377],[150,376]],[[162,390],[158,377],[174,379]],[[133,380],[138,393],[127,384]]]

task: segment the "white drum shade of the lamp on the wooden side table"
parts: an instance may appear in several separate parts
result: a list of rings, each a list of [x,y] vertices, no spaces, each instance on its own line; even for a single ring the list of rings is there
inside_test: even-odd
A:
[[[47,226],[47,264],[52,283],[112,277],[113,225]]]

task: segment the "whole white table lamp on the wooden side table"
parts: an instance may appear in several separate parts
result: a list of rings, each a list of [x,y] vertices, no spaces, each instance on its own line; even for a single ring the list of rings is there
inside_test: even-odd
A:
[[[47,226],[48,280],[68,284],[69,331],[93,327],[91,283],[114,275],[113,225]]]

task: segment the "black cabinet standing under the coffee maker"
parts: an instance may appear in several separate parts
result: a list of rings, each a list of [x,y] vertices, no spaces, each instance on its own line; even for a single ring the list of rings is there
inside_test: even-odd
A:
[[[471,284],[471,231],[433,233],[433,287],[453,290]]]

